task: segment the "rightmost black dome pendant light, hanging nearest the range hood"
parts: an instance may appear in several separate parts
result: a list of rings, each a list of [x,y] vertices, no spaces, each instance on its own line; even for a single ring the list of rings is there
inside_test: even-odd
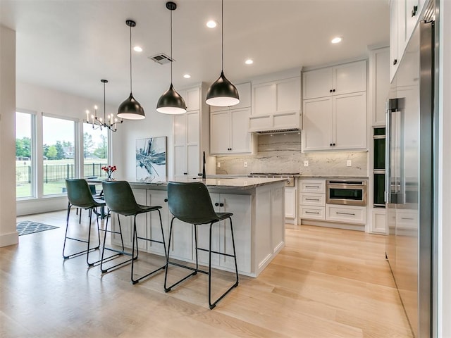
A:
[[[221,76],[206,92],[205,103],[210,106],[235,106],[240,103],[237,88],[224,75],[224,1],[221,0]]]

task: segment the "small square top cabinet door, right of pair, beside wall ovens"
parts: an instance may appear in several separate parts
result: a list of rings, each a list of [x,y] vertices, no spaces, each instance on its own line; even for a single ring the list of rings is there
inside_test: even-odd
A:
[[[333,81],[334,95],[366,91],[366,61],[335,66]]]

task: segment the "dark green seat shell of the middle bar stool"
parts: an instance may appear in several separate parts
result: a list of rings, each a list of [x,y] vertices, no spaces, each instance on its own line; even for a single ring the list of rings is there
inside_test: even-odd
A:
[[[140,208],[127,181],[101,182],[106,206],[121,215],[135,215]]]

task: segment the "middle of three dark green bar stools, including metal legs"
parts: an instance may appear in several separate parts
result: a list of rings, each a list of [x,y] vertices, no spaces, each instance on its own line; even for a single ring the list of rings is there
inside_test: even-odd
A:
[[[109,232],[119,233],[121,234],[121,240],[122,240],[122,250],[117,251],[118,253],[125,254],[127,256],[131,256],[130,259],[127,261],[123,261],[121,263],[118,263],[116,265],[113,265],[109,268],[104,268],[104,261],[108,261],[108,258],[104,258],[104,251],[105,250],[113,250],[111,248],[105,247],[106,242],[106,232],[105,232],[105,239],[104,239],[104,245],[102,247],[102,253],[101,253],[101,264],[100,269],[102,273],[107,273],[111,270],[114,270],[115,268],[119,268],[125,264],[132,263],[131,273],[130,273],[130,280],[132,281],[132,284],[136,284],[140,280],[142,280],[145,277],[149,277],[150,275],[153,275],[159,270],[162,270],[166,268],[166,265],[162,265],[159,268],[156,268],[155,270],[152,270],[151,272],[142,275],[141,277],[135,279],[133,277],[133,271],[134,271],[134,262],[138,258],[139,249],[138,249],[138,239],[147,241],[147,242],[156,242],[163,244],[164,252],[166,255],[166,242],[164,240],[164,233],[163,233],[163,223],[161,222],[161,213],[160,210],[161,206],[143,206],[142,204],[137,204],[135,196],[133,195],[132,188],[130,187],[130,184],[127,181],[104,181],[102,182],[102,188],[104,192],[104,199],[106,202],[106,206],[108,207],[108,215],[106,215],[106,229],[108,229],[108,220],[109,220],[109,214],[111,211],[113,213],[116,213],[118,215],[118,226],[119,231],[115,232],[113,230],[109,230]],[[137,234],[137,228],[136,228],[136,216],[140,215],[141,213],[149,213],[152,211],[158,211],[159,213],[159,219],[160,219],[160,227],[161,227],[161,238],[162,240],[159,241],[157,239],[147,238],[147,237],[140,237]],[[132,235],[132,252],[126,252],[123,245],[123,237],[122,237],[122,228],[121,228],[121,218],[119,218],[119,215],[123,216],[133,216],[133,235]],[[135,255],[135,249],[136,249],[136,255]]]

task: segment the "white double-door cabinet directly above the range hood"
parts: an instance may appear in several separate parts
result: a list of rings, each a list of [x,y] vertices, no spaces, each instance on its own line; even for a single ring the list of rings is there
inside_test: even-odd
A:
[[[299,112],[300,108],[300,75],[270,82],[252,82],[252,115]]]

